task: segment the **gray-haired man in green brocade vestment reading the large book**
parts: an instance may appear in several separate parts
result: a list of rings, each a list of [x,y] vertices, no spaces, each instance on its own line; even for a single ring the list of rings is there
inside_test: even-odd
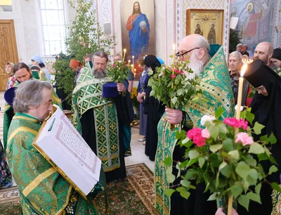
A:
[[[84,200],[32,145],[41,121],[52,110],[51,84],[36,79],[23,82],[15,93],[13,108],[6,155],[18,185],[22,213],[96,214],[96,194],[90,193]]]

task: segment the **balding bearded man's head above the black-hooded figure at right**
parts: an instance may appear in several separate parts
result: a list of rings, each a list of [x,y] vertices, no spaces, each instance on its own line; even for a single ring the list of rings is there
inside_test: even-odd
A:
[[[269,42],[262,42],[256,46],[254,51],[254,60],[260,59],[263,63],[269,65],[270,58],[273,56],[273,45]]]

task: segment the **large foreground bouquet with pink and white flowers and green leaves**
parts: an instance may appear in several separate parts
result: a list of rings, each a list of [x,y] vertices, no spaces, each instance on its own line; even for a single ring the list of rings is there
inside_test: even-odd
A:
[[[173,183],[181,177],[181,184],[174,189],[167,190],[171,195],[178,191],[182,197],[188,199],[190,189],[196,189],[191,181],[205,183],[206,190],[211,196],[209,200],[234,200],[249,208],[249,201],[261,204],[261,183],[269,183],[266,177],[277,171],[276,162],[271,155],[268,146],[276,143],[273,133],[270,136],[261,136],[259,141],[254,141],[252,134],[261,134],[263,125],[254,123],[251,129],[254,115],[251,108],[241,112],[241,119],[221,117],[223,109],[216,111],[215,116],[205,115],[201,119],[202,128],[193,128],[186,131],[177,131],[178,144],[185,148],[185,161],[178,162],[176,168],[178,176],[171,174],[171,157],[164,160],[167,169],[167,180]],[[235,135],[237,133],[237,135]],[[259,157],[256,160],[254,156]],[[268,172],[261,166],[261,160],[269,159],[273,164]],[[173,185],[173,187],[176,185]],[[271,183],[273,189],[280,192],[277,183]],[[228,203],[228,207],[232,204]]]

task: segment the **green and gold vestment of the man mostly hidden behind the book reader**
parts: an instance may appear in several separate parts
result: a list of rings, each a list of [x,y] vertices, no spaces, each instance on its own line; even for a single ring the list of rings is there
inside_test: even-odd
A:
[[[38,73],[38,72],[37,72]],[[32,72],[33,74],[33,72]],[[37,76],[36,76],[37,77]],[[36,78],[35,77],[35,78]],[[39,77],[39,76],[38,76]],[[37,78],[36,78],[37,79]],[[48,80],[46,79],[46,77],[42,77],[42,81],[47,82]],[[18,82],[15,83],[14,87],[18,87]],[[60,107],[60,109],[63,110],[63,107],[61,105],[61,100],[60,98],[58,98],[57,93],[55,93],[55,91],[53,90],[53,104],[58,105]],[[4,107],[4,122],[3,122],[3,143],[4,143],[4,148],[6,150],[7,147],[7,136],[8,136],[8,129],[10,127],[11,124],[11,120],[13,117],[14,113],[13,113],[13,107],[11,107],[10,105],[8,105],[8,103],[5,103],[5,107]]]

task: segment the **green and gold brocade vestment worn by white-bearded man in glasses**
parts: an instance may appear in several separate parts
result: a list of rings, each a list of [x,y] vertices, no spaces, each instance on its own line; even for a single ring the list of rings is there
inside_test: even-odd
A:
[[[224,113],[221,119],[233,117],[234,114],[234,98],[230,83],[230,76],[226,66],[223,48],[218,49],[217,53],[205,65],[201,72],[202,78],[198,89],[202,89],[207,102],[191,103],[189,108],[184,112],[187,113],[190,126],[200,127],[200,119],[204,115],[215,115],[218,107],[223,107]],[[190,120],[191,119],[191,120]],[[171,200],[166,195],[169,189],[169,183],[166,181],[166,167],[162,163],[166,157],[172,157],[176,146],[176,131],[181,129],[181,125],[174,125],[173,129],[169,129],[169,123],[166,121],[166,114],[158,124],[158,145],[155,158],[155,207],[159,214],[170,214]]]

